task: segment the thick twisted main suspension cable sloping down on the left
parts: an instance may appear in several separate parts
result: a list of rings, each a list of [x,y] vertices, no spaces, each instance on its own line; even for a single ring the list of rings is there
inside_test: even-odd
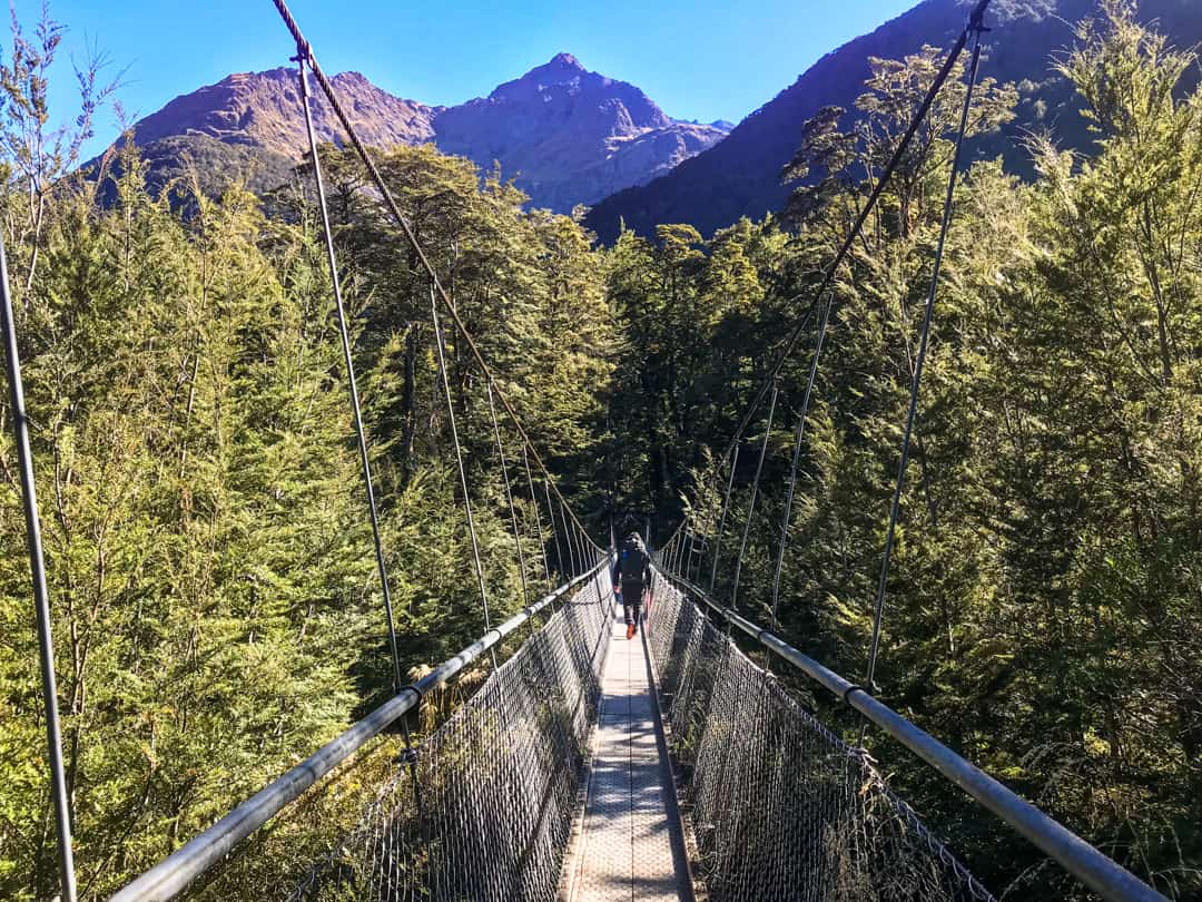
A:
[[[983,1],[988,2],[988,0]],[[326,100],[329,102],[331,108],[334,111],[334,115],[338,118],[339,124],[343,126],[343,131],[346,133],[347,140],[351,142],[351,146],[355,148],[356,154],[358,154],[359,160],[362,160],[364,168],[368,171],[368,176],[370,177],[371,183],[375,186],[376,191],[379,191],[380,200],[383,202],[385,208],[388,210],[388,214],[400,227],[401,232],[405,236],[405,239],[409,242],[409,245],[412,249],[413,255],[417,257],[417,261],[422,271],[424,271],[427,278],[429,279],[432,290],[436,295],[438,299],[446,308],[447,314],[451,316],[452,322],[459,331],[459,334],[462,336],[464,344],[471,352],[471,356],[476,358],[476,363],[483,372],[484,378],[496,390],[496,397],[501,402],[501,407],[505,408],[505,411],[510,415],[510,420],[513,422],[514,428],[522,437],[522,441],[525,444],[525,447],[529,449],[530,455],[535,459],[535,463],[542,470],[543,477],[547,480],[551,491],[554,492],[555,495],[560,499],[560,502],[563,502],[566,505],[567,499],[563,497],[563,494],[559,491],[559,487],[554,483],[554,480],[551,475],[551,470],[547,468],[547,464],[543,462],[542,456],[538,453],[538,449],[535,447],[534,441],[531,441],[530,435],[525,431],[525,427],[523,427],[522,420],[517,415],[517,410],[510,403],[508,397],[506,397],[505,392],[498,384],[495,376],[493,375],[493,370],[488,366],[488,362],[484,360],[484,356],[481,354],[475,338],[468,330],[468,326],[464,324],[463,318],[459,315],[458,308],[451,299],[451,296],[447,293],[446,289],[442,286],[442,281],[439,279],[434,265],[430,262],[429,256],[427,256],[426,250],[418,243],[417,233],[413,230],[412,224],[409,221],[409,218],[401,212],[400,206],[397,203],[397,198],[393,197],[392,190],[388,188],[387,182],[385,182],[383,176],[380,173],[380,168],[376,166],[375,160],[371,159],[371,154],[368,153],[367,146],[359,138],[359,135],[356,131],[355,125],[351,123],[350,115],[346,113],[345,107],[338,99],[338,94],[334,91],[334,85],[331,83],[329,78],[326,77],[326,73],[317,64],[317,59],[313,52],[313,44],[310,44],[305,40],[304,35],[300,32],[300,26],[297,24],[297,20],[292,17],[292,12],[288,10],[288,6],[285,2],[285,0],[272,0],[272,2],[275,6],[276,12],[279,12],[280,18],[284,20],[285,26],[288,29],[288,32],[296,41],[297,55],[304,57],[307,63],[309,64],[309,69],[313,70],[313,76],[314,78],[317,79],[317,85],[321,88],[322,94],[326,95]],[[570,508],[569,508],[569,514],[575,521],[576,515],[571,512]],[[578,521],[577,526],[579,526],[581,529],[583,530],[583,524],[581,524]],[[589,541],[591,541],[591,539]]]

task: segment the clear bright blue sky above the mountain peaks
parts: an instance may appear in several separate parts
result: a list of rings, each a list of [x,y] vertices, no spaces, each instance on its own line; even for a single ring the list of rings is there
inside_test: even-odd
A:
[[[14,0],[32,23],[40,0]],[[427,103],[488,94],[566,51],[594,71],[633,82],[683,119],[737,121],[823,53],[917,0],[292,0],[327,72],[358,70],[381,88]],[[64,51],[99,46],[129,66],[120,100],[137,115],[230,72],[285,65],[294,52],[269,0],[50,0],[70,28]],[[740,8],[742,7],[742,8]],[[4,31],[0,48],[11,42]],[[72,113],[64,54],[53,100]],[[97,123],[90,150],[112,140]]]

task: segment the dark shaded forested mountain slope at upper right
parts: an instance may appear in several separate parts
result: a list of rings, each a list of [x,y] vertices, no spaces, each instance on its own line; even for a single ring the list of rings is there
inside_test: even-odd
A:
[[[1028,174],[1019,138],[1033,129],[1051,130],[1063,146],[1088,149],[1081,103],[1052,71],[1052,57],[1072,44],[1072,23],[1091,14],[1100,14],[1097,0],[994,0],[982,75],[1016,83],[1020,102],[1017,120],[1002,135],[969,148],[976,159],[1001,154],[1011,171]],[[596,204],[587,225],[602,241],[612,241],[621,221],[644,235],[661,222],[689,222],[710,235],[740,216],[762,219],[780,209],[790,191],[780,184],[780,171],[797,150],[804,123],[822,107],[838,106],[849,111],[844,127],[850,127],[869,77],[869,57],[902,59],[923,44],[951,47],[966,18],[964,0],[924,0],[823,57],[716,147]],[[1141,0],[1139,18],[1155,20],[1177,46],[1202,42],[1200,0]]]

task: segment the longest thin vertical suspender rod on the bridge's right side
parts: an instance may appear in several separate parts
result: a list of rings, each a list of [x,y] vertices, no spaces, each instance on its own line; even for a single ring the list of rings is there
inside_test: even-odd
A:
[[[876,606],[873,615],[873,641],[868,649],[868,670],[864,686],[871,692],[873,677],[876,673],[876,657],[881,643],[881,622],[885,615],[885,592],[889,580],[889,563],[893,557],[893,536],[897,530],[898,514],[902,508],[902,492],[905,489],[905,470],[910,462],[910,439],[914,435],[914,422],[918,411],[918,390],[922,385],[922,367],[927,358],[927,346],[930,340],[930,321],[935,310],[935,297],[939,293],[939,273],[944,263],[944,249],[947,244],[947,231],[952,224],[952,209],[956,198],[956,182],[959,176],[960,154],[964,149],[964,132],[968,130],[969,112],[972,107],[972,90],[976,87],[977,72],[981,66],[981,23],[976,22],[976,43],[972,48],[972,63],[969,70],[969,84],[964,93],[964,109],[960,113],[960,129],[956,137],[956,150],[952,154],[952,172],[947,178],[947,197],[944,201],[944,221],[940,226],[939,244],[935,248],[935,266],[930,275],[930,291],[927,293],[927,309],[922,320],[922,336],[918,344],[918,356],[914,364],[914,380],[910,384],[910,407],[906,411],[905,433],[902,438],[902,455],[898,461],[897,482],[893,489],[893,504],[889,508],[889,526],[885,534],[885,554],[881,559],[881,576],[876,584]],[[861,726],[859,741],[863,744],[864,729]]]

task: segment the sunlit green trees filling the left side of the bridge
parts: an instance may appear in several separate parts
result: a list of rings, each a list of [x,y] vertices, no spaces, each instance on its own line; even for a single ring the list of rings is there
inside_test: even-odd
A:
[[[313,198],[286,188],[263,204],[237,184],[214,198],[196,176],[213,161],[194,162],[171,176],[168,196],[155,161],[125,147],[93,180],[58,178],[36,229],[24,216],[31,177],[6,170],[5,242],[29,267],[18,331],[88,898],[178,848],[392,684]],[[421,672],[483,633],[430,295],[351,158],[331,152],[328,165],[401,663]],[[498,382],[572,474],[565,491],[582,506],[597,498],[612,326],[589,236],[524,212],[520,192],[468,161],[421,148],[383,165]],[[543,570],[540,475],[536,508],[502,420],[518,574],[482,374],[445,328],[495,623],[525,604],[523,584],[538,593],[560,576]],[[56,876],[16,473],[6,433],[0,895],[32,900]],[[469,671],[464,686],[482,676]],[[264,833],[210,892],[256,898],[294,877],[353,823],[389,747]]]

